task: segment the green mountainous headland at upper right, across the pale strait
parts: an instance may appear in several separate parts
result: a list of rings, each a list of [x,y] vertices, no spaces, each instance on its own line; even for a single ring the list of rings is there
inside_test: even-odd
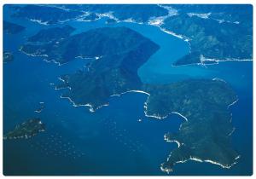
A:
[[[178,59],[173,65],[208,65],[219,61],[253,59],[251,5],[172,7],[179,14],[166,18],[160,28],[183,38],[191,48],[188,55]]]

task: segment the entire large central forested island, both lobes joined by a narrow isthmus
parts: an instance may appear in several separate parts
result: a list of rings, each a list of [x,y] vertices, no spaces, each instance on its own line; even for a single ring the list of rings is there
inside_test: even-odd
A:
[[[229,84],[218,79],[143,84],[137,69],[159,45],[126,27],[96,28],[71,36],[73,31],[71,26],[49,28],[28,38],[20,48],[27,55],[44,56],[59,65],[78,57],[88,61],[78,72],[61,76],[56,89],[67,88],[62,98],[94,112],[107,106],[113,95],[144,93],[148,95],[146,116],[166,118],[177,113],[185,119],[177,133],[165,135],[166,141],[175,141],[178,147],[161,170],[170,172],[175,164],[189,159],[224,168],[236,164],[239,155],[230,141],[234,128],[229,107],[238,99]]]

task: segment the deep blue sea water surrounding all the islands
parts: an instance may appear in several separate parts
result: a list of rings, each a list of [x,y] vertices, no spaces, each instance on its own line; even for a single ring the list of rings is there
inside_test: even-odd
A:
[[[163,120],[146,118],[143,102],[147,96],[129,93],[112,97],[108,107],[96,113],[73,107],[61,99],[63,91],[54,90],[61,74],[75,72],[86,60],[57,66],[20,53],[26,38],[42,28],[37,23],[9,17],[4,19],[26,26],[26,31],[4,35],[3,47],[15,55],[15,61],[3,65],[3,131],[27,118],[40,117],[47,130],[32,140],[3,142],[5,175],[166,175],[160,164],[175,143],[164,141],[167,131],[177,131],[182,118],[171,115]],[[144,83],[165,84],[184,78],[222,78],[232,85],[239,101],[231,107],[236,127],[233,143],[241,159],[230,170],[218,165],[189,161],[178,164],[170,175],[251,175],[253,170],[253,62],[229,61],[213,66],[172,66],[189,53],[189,44],[161,32],[156,26],[135,23],[106,25],[106,19],[92,22],[70,21],[74,33],[99,26],[127,26],[160,45],[138,71]],[[50,26],[52,27],[52,26]],[[34,113],[44,101],[42,113]],[[142,119],[141,122],[138,119]],[[56,144],[57,141],[57,144]],[[59,144],[60,143],[60,144]],[[70,145],[70,154],[60,153]],[[61,148],[61,150],[60,150]],[[50,153],[50,151],[55,151]],[[62,151],[63,152],[63,151]]]

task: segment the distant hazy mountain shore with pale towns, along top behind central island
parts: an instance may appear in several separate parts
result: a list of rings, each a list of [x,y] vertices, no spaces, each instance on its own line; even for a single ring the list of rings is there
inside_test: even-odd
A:
[[[143,10],[142,10],[143,9]],[[15,17],[23,17],[42,25],[66,20],[97,20],[109,17],[114,20],[147,22],[152,17],[167,15],[168,10],[154,4],[52,4],[16,7]],[[48,13],[44,13],[48,12]]]

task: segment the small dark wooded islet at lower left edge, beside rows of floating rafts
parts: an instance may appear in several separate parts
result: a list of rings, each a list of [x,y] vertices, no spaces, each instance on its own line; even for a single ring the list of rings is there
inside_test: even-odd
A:
[[[9,131],[3,135],[4,140],[12,139],[28,139],[32,136],[38,135],[39,132],[45,130],[45,125],[39,118],[32,118],[26,120],[22,124],[17,124],[14,130]]]

